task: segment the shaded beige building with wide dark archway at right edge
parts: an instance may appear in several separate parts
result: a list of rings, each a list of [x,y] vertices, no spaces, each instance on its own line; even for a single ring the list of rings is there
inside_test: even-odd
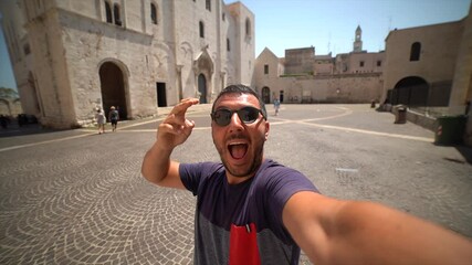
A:
[[[426,127],[441,115],[469,114],[472,146],[472,6],[455,22],[394,30],[386,39],[382,102],[423,115]],[[418,118],[418,115],[412,116]]]

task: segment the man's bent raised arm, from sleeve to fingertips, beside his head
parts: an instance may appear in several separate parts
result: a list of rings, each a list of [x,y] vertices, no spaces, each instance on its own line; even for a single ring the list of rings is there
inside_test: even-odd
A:
[[[186,119],[187,109],[195,104],[198,104],[197,98],[183,99],[160,123],[156,142],[146,152],[141,166],[143,176],[150,182],[185,189],[179,177],[179,163],[171,161],[170,155],[174,148],[187,140],[195,127],[193,121]]]

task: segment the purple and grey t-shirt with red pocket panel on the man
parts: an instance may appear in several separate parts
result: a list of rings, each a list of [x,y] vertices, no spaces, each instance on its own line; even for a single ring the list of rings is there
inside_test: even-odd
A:
[[[272,160],[239,184],[228,183],[222,163],[181,163],[179,173],[198,197],[195,264],[298,263],[282,211],[294,193],[318,192],[305,176]]]

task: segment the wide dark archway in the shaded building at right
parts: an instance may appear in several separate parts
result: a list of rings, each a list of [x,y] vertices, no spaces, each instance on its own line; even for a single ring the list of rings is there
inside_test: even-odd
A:
[[[418,76],[409,76],[400,80],[394,88],[392,104],[408,106],[427,106],[429,95],[428,83]]]

